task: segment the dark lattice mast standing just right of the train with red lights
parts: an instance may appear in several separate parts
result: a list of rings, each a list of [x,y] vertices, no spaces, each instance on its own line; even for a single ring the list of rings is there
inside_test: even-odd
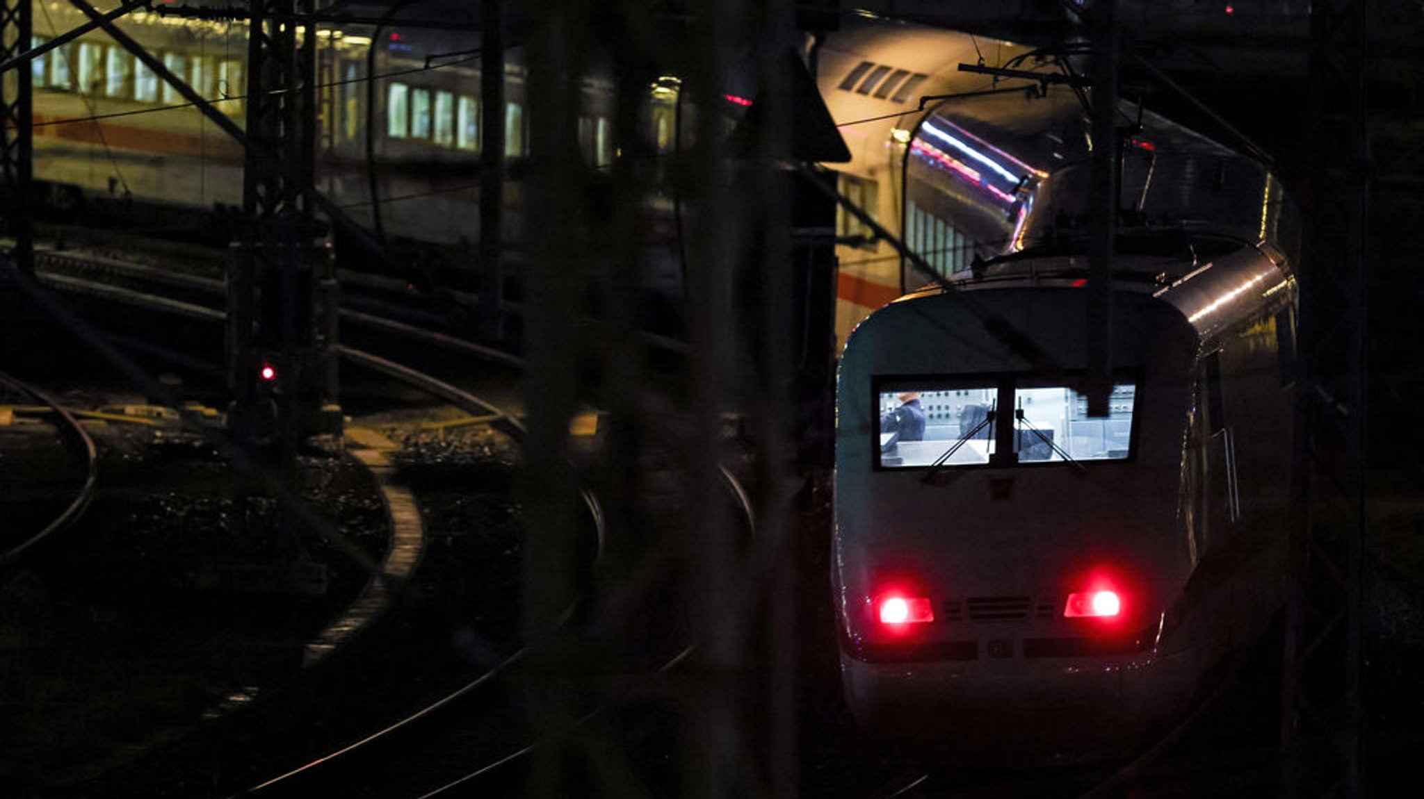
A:
[[[1312,4],[1306,253],[1292,485],[1282,759],[1286,795],[1366,795],[1363,560],[1368,412],[1370,3]],[[1317,479],[1323,478],[1323,479]],[[1344,505],[1330,510],[1330,502]]]

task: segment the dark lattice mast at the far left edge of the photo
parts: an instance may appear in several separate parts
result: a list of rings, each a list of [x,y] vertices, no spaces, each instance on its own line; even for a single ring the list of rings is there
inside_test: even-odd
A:
[[[4,0],[0,9],[0,61],[30,50],[30,0]],[[4,229],[14,237],[11,252],[21,274],[34,274],[33,198],[34,119],[30,85],[33,64],[24,61],[0,75],[0,191],[6,192]]]

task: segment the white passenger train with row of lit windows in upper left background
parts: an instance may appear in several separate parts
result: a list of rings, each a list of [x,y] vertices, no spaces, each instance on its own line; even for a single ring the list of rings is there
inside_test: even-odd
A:
[[[34,1],[36,44],[83,21],[67,6]],[[140,10],[118,26],[199,95],[239,124],[245,121],[244,21],[181,20]],[[379,41],[375,34],[370,26],[315,30],[319,188],[370,222],[369,169],[375,168],[393,235],[439,243],[474,239],[484,117],[503,118],[507,159],[528,155],[521,51],[506,54],[504,107],[490,109],[483,107],[478,55],[468,48],[473,34],[404,31],[399,21],[380,28]],[[369,92],[372,81],[376,91]],[[36,58],[33,84],[34,173],[66,205],[85,195],[195,208],[241,203],[241,146],[103,31]],[[644,98],[648,138],[658,152],[676,146],[678,94],[675,82],[662,81]],[[591,169],[608,168],[619,151],[612,85],[590,75],[580,95],[578,146]],[[372,154],[369,132],[375,134]],[[511,236],[518,233],[518,212],[517,202],[511,203]]]

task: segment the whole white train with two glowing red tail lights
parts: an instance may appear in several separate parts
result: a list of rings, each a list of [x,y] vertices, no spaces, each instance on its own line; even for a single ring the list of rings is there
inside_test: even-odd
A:
[[[837,323],[842,692],[877,739],[953,762],[1131,758],[1284,601],[1299,213],[1257,159],[1122,101],[1102,294],[1087,92],[950,85],[911,64],[936,37],[941,60],[1038,64],[891,23],[826,44],[837,122],[896,100],[874,75],[957,95],[900,102],[847,169],[879,178],[916,257],[842,243],[866,264]],[[867,284],[896,296],[864,303]]]

